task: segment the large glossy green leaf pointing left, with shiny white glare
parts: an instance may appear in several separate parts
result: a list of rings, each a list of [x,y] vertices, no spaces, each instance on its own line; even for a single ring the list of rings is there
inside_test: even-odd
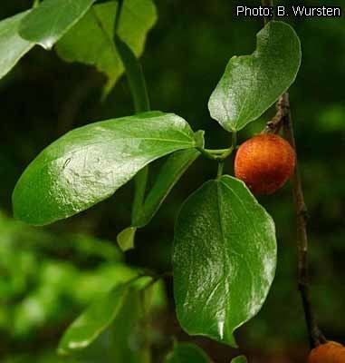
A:
[[[53,142],[14,188],[14,216],[34,225],[67,218],[110,197],[149,162],[196,147],[173,113],[142,113],[91,123]]]

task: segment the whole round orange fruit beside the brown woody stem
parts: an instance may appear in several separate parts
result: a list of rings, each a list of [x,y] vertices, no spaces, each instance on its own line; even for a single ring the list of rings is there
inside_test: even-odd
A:
[[[260,134],[244,142],[235,156],[235,177],[254,194],[271,194],[291,177],[295,152],[275,134]]]

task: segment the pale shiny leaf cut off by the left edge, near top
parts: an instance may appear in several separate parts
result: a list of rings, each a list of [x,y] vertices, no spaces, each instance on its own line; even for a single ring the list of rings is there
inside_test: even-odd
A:
[[[34,46],[18,34],[22,19],[29,13],[30,10],[0,22],[0,78],[10,72],[19,59]]]

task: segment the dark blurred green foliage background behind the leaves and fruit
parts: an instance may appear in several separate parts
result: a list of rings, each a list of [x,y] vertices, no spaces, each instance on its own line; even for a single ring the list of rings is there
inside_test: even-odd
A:
[[[30,3],[3,0],[0,17],[23,11]],[[257,5],[254,1],[245,3]],[[206,130],[207,147],[226,147],[228,135],[210,118],[208,97],[229,58],[253,52],[262,19],[235,18],[235,2],[225,0],[157,0],[156,4],[158,24],[149,34],[142,57],[152,108],[177,113],[194,130]],[[344,6],[345,2],[323,4]],[[312,299],[327,337],[344,342],[345,22],[344,17],[285,20],[302,41],[302,68],[291,88],[291,103],[310,213]],[[14,184],[43,147],[75,126],[132,113],[125,78],[104,103],[100,101],[102,82],[102,76],[91,67],[63,63],[54,52],[38,46],[0,82],[1,362],[74,362],[72,358],[55,357],[63,329],[91,299],[107,289],[110,279],[126,275],[123,260],[158,271],[171,269],[178,208],[191,191],[216,175],[213,162],[198,160],[154,220],[139,231],[136,249],[126,256],[120,255],[116,236],[129,225],[131,183],[108,201],[48,228],[31,228],[14,221]],[[240,140],[260,132],[273,113],[271,109],[247,126],[240,132]],[[159,165],[155,162],[152,170]],[[231,162],[226,171],[232,171]],[[239,329],[237,338],[250,362],[300,362],[308,344],[296,289],[290,186],[260,201],[277,225],[278,270],[264,309]],[[168,313],[161,328],[187,339],[177,326],[171,280],[167,282]],[[229,362],[239,352],[206,338],[192,340],[217,363]],[[104,349],[97,351],[96,347],[81,361],[111,361],[107,359]]]

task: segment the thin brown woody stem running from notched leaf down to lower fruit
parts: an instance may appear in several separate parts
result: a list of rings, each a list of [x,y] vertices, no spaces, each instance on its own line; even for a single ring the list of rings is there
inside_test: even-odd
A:
[[[288,142],[291,143],[296,152],[296,142],[294,138],[292,114],[289,103],[289,93],[284,93],[279,101],[282,108],[283,132]],[[315,315],[311,306],[311,292],[308,269],[308,235],[307,235],[307,219],[308,211],[304,201],[302,191],[302,180],[298,169],[297,152],[296,152],[296,168],[292,175],[292,199],[294,211],[296,214],[297,225],[297,247],[298,247],[298,288],[302,297],[305,320],[310,339],[311,348],[314,348],[326,339],[323,337],[319,329]]]

